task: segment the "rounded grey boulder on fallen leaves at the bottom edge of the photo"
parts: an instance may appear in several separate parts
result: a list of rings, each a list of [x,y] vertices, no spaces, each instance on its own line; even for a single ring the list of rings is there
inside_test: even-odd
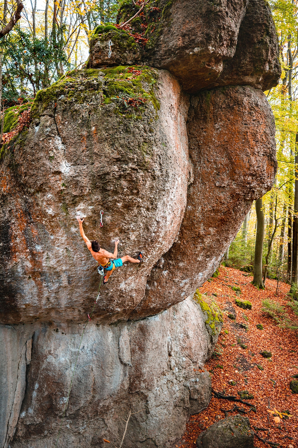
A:
[[[209,426],[196,441],[197,448],[253,448],[254,433],[249,419],[240,414]]]

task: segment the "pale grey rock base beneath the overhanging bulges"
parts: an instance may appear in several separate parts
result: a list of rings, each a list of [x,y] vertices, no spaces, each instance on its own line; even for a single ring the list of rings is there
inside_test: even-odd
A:
[[[101,447],[103,439],[119,446],[131,410],[137,414],[123,446],[169,448],[189,414],[210,400],[210,374],[202,367],[215,339],[205,321],[189,297],[138,322],[89,323],[58,446]],[[0,396],[1,447],[55,446],[83,328],[1,326],[0,374],[8,385]]]

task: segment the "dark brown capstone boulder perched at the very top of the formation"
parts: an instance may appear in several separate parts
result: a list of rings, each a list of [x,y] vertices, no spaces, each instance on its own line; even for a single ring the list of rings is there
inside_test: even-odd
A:
[[[134,16],[138,9],[133,3],[123,2],[119,24]],[[139,36],[146,26],[144,37],[148,41],[142,45]],[[131,64],[141,59],[151,67],[168,70],[189,93],[225,85],[250,85],[267,90],[277,85],[281,75],[277,32],[265,0],[233,3],[161,0],[158,8],[148,6],[143,16],[130,22],[130,27],[131,43],[126,37],[121,49],[119,31],[114,32],[115,50],[112,49],[111,59],[107,56],[108,37],[104,38],[104,34],[94,39],[89,66],[113,65],[114,60],[126,64],[129,54],[129,60],[134,59]]]

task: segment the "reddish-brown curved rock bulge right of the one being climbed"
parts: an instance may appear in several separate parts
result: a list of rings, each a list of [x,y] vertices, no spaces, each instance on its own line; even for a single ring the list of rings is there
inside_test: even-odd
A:
[[[193,182],[185,215],[176,241],[152,269],[132,319],[158,313],[201,286],[218,267],[253,199],[273,184],[275,124],[261,90],[217,88],[190,103]]]

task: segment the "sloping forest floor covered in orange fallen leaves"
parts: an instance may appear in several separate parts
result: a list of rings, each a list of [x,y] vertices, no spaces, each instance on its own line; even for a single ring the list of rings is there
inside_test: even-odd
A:
[[[190,417],[184,437],[173,447],[195,447],[197,436],[202,431],[219,419],[225,418],[222,409],[232,409],[234,405],[239,405],[245,409],[247,414],[243,415],[249,418],[252,429],[260,437],[268,439],[272,445],[276,443],[283,448],[298,448],[298,394],[292,394],[289,387],[293,379],[291,376],[298,374],[298,334],[281,329],[261,310],[264,299],[286,305],[289,301],[286,296],[289,285],[281,283],[276,294],[277,281],[267,279],[266,289],[258,290],[250,283],[252,277],[229,267],[220,267],[218,278],[210,280],[206,281],[199,291],[207,293],[208,296],[214,295],[223,312],[224,324],[215,348],[215,351],[221,354],[217,359],[211,358],[205,369],[210,371],[212,388],[216,392],[225,390],[226,395],[238,398],[238,391],[250,392],[254,399],[249,401],[256,406],[256,413],[248,412],[250,408],[241,403],[212,396],[207,409]],[[243,310],[235,305],[236,295],[231,286],[240,286],[239,299],[249,300],[252,310]],[[290,318],[297,320],[290,308],[286,308]],[[229,313],[235,314],[236,319],[229,319]],[[248,329],[239,327],[241,323],[248,325]],[[258,323],[263,325],[263,330],[256,328]],[[247,349],[241,348],[239,342],[246,345]],[[263,358],[260,355],[262,350],[270,351],[272,358]],[[260,370],[257,365],[262,366],[264,370]],[[235,386],[230,384],[231,380],[236,382]],[[273,413],[277,415],[276,410],[289,410],[292,417],[275,423]],[[238,412],[230,412],[228,415],[235,414]],[[255,427],[269,431],[256,431]],[[255,447],[269,446],[255,437]]]

